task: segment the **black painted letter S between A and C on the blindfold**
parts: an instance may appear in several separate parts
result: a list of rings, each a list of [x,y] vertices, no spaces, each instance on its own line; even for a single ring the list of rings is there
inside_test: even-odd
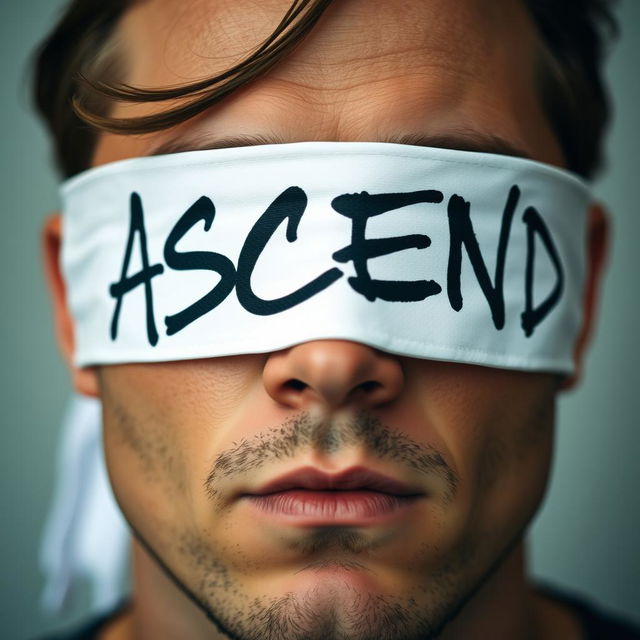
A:
[[[194,202],[175,224],[164,245],[164,260],[167,266],[177,271],[205,269],[220,274],[220,281],[202,298],[164,319],[167,335],[173,335],[184,329],[200,316],[215,309],[230,293],[236,282],[236,270],[233,262],[226,256],[212,251],[176,251],[181,238],[198,222],[204,222],[204,230],[209,231],[216,215],[213,202],[202,196]]]

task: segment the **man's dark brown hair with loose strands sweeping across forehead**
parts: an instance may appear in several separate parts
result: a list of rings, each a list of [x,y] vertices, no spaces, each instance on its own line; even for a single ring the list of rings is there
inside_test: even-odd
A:
[[[137,0],[72,0],[37,51],[34,95],[65,176],[87,168],[97,131],[149,133],[216,104],[278,63],[302,41],[332,0],[293,0],[278,27],[250,55],[214,77],[179,87],[143,89],[122,77],[115,26]],[[602,82],[603,44],[615,32],[614,0],[524,0],[545,45],[543,105],[568,167],[592,177],[602,162],[609,102]],[[606,29],[605,29],[606,28]],[[112,101],[178,101],[153,115],[114,118]]]

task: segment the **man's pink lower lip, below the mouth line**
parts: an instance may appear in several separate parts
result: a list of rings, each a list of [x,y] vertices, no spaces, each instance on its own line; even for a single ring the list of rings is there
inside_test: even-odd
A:
[[[400,516],[419,496],[377,491],[310,491],[292,489],[248,496],[258,510],[307,525],[373,524]]]

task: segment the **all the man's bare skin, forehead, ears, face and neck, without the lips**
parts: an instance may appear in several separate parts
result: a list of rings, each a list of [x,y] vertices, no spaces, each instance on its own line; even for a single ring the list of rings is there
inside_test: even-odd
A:
[[[125,79],[167,86],[212,75],[269,35],[287,7],[286,0],[141,2],[117,29]],[[539,59],[517,0],[344,0],[269,75],[171,130],[101,134],[93,164],[235,135],[289,142],[421,134],[464,148],[477,148],[478,135],[498,136],[562,166],[536,91]],[[116,113],[154,108],[120,105]],[[577,360],[606,232],[601,210],[590,215]],[[54,219],[45,233],[49,281],[71,359],[59,244]],[[102,399],[111,481],[138,540],[134,605],[104,637],[580,637],[570,612],[536,595],[525,578],[522,537],[547,484],[556,376],[333,340],[72,373],[81,392]],[[245,466],[233,457],[241,442],[249,445]],[[407,444],[442,463],[420,470],[402,454]],[[232,471],[212,474],[224,459]],[[392,525],[257,527],[237,492],[304,464],[327,471],[363,464],[428,498]]]

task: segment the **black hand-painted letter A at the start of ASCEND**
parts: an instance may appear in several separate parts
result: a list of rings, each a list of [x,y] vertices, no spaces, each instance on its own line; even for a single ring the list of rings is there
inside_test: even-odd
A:
[[[133,241],[135,235],[140,238],[140,258],[142,260],[142,269],[138,273],[127,276],[131,254],[133,252]],[[142,201],[137,193],[131,194],[130,199],[130,222],[129,237],[127,238],[127,246],[124,252],[124,260],[122,262],[122,273],[120,280],[114,282],[109,287],[109,293],[116,298],[116,308],[113,311],[111,319],[111,339],[118,337],[118,320],[120,318],[120,310],[122,309],[122,298],[137,286],[144,284],[144,297],[147,308],[147,338],[149,344],[155,347],[158,344],[158,331],[156,330],[156,322],[153,315],[153,292],[151,290],[151,279],[160,275],[164,271],[161,264],[149,265],[149,255],[147,252],[147,234],[144,229],[144,215],[142,211]]]

